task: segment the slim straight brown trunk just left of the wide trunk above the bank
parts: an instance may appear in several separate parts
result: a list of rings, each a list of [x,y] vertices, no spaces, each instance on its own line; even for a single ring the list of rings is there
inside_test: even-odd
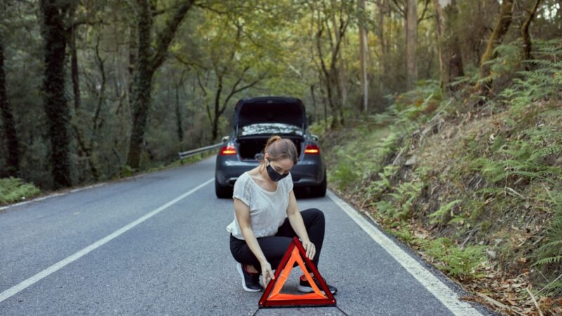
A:
[[[406,2],[406,89],[410,90],[417,81],[417,1]]]

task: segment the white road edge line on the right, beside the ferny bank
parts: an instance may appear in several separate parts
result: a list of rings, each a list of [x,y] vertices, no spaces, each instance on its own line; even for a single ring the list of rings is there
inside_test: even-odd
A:
[[[402,265],[407,272],[417,279],[428,291],[433,294],[443,305],[445,305],[455,315],[482,315],[478,310],[473,308],[469,303],[460,301],[455,291],[452,291],[443,282],[440,281],[429,270],[424,268],[421,264],[414,260],[405,251],[400,249],[390,238],[386,237],[374,225],[371,225],[365,218],[363,218],[358,211],[353,209],[352,206],[344,202],[342,199],[334,195],[334,193],[327,191],[327,196],[338,204],[351,219],[357,223],[360,228],[365,230],[367,234],[377,244],[381,245],[388,254],[390,254],[400,265]]]

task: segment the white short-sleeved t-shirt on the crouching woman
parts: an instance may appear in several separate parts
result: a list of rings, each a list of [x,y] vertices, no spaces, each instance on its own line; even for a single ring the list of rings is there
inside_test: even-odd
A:
[[[251,230],[256,238],[273,236],[287,218],[289,206],[289,192],[293,190],[291,173],[277,183],[277,190],[270,192],[260,187],[249,176],[248,172],[242,173],[234,183],[233,199],[244,202],[250,209]],[[234,237],[244,240],[240,225],[234,214],[234,220],[226,227]]]

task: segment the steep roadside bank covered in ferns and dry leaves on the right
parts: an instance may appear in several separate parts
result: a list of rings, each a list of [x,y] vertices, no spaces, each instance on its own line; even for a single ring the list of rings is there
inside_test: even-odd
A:
[[[383,114],[313,129],[330,140],[329,185],[462,283],[466,299],[558,314],[562,45],[538,45],[516,70],[506,58],[492,65],[499,84],[487,97],[471,94],[476,79],[447,98],[426,81]]]

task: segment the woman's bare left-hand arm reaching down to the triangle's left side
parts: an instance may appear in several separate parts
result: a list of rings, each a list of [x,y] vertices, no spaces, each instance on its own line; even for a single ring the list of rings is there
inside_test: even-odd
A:
[[[254,231],[251,230],[250,209],[244,202],[240,201],[240,199],[235,198],[234,211],[248,248],[251,250],[252,254],[258,258],[259,264],[261,265],[261,275],[263,275],[263,284],[267,287],[269,280],[274,278],[273,271],[271,270],[271,265],[268,263],[266,256],[263,254],[263,251],[261,251]]]

